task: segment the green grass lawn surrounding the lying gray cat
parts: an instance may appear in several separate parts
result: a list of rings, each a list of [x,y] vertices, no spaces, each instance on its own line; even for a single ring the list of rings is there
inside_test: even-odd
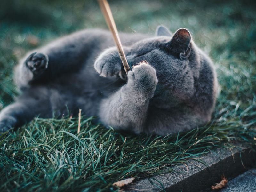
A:
[[[120,31],[153,34],[157,25],[186,27],[213,59],[220,83],[212,121],[190,132],[132,135],[82,118],[40,119],[0,138],[3,191],[101,191],[121,179],[172,171],[212,148],[242,142],[256,148],[256,12],[242,1],[110,1]],[[12,82],[18,58],[83,28],[107,28],[96,1],[4,0],[0,7],[0,109],[19,91]],[[198,159],[197,159],[198,160]],[[161,188],[161,184],[155,183]]]

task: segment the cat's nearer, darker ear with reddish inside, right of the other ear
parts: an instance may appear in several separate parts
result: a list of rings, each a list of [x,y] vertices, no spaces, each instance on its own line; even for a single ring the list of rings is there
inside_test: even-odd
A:
[[[172,53],[180,56],[180,59],[188,59],[190,55],[191,35],[188,29],[180,28],[172,36],[169,42]]]

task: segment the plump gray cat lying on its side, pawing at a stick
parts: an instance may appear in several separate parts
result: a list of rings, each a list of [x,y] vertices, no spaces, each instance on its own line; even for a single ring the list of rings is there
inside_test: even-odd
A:
[[[187,29],[172,35],[160,26],[156,37],[120,38],[132,69],[128,76],[104,30],[76,32],[30,52],[15,70],[22,94],[1,111],[0,131],[36,116],[78,114],[79,108],[106,126],[136,134],[167,135],[211,119],[216,74]]]

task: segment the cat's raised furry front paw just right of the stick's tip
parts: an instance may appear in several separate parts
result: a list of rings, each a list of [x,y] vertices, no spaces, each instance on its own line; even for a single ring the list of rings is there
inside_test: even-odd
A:
[[[133,66],[128,73],[128,85],[138,92],[148,93],[150,97],[153,97],[157,82],[156,70],[147,62]]]

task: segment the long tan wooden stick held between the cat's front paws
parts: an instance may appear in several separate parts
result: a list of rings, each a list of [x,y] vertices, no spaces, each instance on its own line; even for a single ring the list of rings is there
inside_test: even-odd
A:
[[[123,47],[122,47],[117,29],[116,29],[116,24],[115,24],[111,9],[109,7],[108,1],[107,0],[99,0],[99,4],[100,4],[100,9],[105,17],[107,24],[108,24],[108,28],[112,33],[119,56],[124,65],[124,70],[125,70],[126,74],[128,74],[128,72],[130,71],[130,67],[129,67],[126,57],[124,55],[124,50],[123,50]]]

